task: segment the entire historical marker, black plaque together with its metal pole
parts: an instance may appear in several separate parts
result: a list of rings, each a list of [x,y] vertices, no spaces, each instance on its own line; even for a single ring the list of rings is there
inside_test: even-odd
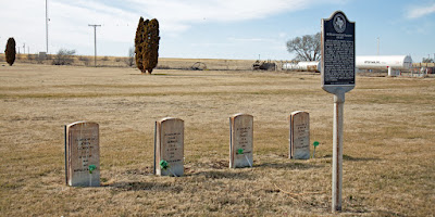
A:
[[[334,94],[332,212],[341,210],[343,107],[355,88],[355,22],[341,11],[322,18],[322,88]]]

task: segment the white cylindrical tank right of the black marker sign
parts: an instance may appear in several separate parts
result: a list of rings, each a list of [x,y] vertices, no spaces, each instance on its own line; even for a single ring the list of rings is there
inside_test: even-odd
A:
[[[396,69],[411,68],[412,59],[409,55],[357,55],[359,69]]]

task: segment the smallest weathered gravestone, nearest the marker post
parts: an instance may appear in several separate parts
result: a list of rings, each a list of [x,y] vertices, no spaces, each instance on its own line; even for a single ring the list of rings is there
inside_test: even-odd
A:
[[[290,123],[289,158],[310,158],[310,114],[297,111],[288,117]]]

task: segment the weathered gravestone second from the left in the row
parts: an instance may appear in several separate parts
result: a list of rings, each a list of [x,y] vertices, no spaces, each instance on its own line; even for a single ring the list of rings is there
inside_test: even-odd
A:
[[[159,176],[183,176],[183,119],[166,117],[156,122],[154,174]]]

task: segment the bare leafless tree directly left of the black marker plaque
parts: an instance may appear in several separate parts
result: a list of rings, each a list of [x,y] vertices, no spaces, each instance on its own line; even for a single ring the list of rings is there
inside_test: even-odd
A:
[[[304,35],[287,41],[287,51],[296,52],[296,61],[319,61],[321,58],[321,35]]]

